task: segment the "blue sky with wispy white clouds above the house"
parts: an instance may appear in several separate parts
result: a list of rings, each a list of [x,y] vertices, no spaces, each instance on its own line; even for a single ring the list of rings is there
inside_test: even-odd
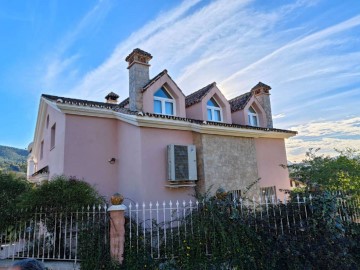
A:
[[[0,3],[0,144],[33,139],[42,93],[128,96],[124,58],[139,47],[189,94],[272,87],[274,125],[309,147],[360,149],[358,0],[22,0]]]

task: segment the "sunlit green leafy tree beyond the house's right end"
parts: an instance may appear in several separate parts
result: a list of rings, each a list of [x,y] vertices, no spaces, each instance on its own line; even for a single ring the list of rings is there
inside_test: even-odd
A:
[[[360,195],[360,152],[348,148],[330,157],[318,151],[309,149],[302,163],[290,165],[290,176],[310,189],[317,186]]]

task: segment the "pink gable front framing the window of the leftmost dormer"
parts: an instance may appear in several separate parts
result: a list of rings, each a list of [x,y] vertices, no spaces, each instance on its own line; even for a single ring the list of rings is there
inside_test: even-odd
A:
[[[143,93],[143,111],[150,113],[154,112],[154,93],[163,85],[175,99],[176,116],[185,117],[185,96],[170,79],[168,74],[164,74]]]

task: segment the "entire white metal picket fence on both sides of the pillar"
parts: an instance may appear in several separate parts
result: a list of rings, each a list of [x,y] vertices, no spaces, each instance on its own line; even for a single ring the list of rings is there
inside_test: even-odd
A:
[[[169,201],[127,205],[125,256],[150,254],[154,259],[178,256],[184,241],[197,237],[208,255],[216,248],[215,220],[228,218],[269,235],[302,234],[310,228],[314,198],[296,197],[279,202],[275,197],[251,200]],[[82,207],[77,211],[52,212],[20,210],[16,222],[0,232],[0,259],[36,258],[39,260],[78,261],[79,240],[97,224],[104,242],[109,239],[110,219],[106,205]],[[360,224],[360,202],[337,199],[337,215],[342,222]],[[205,221],[208,221],[204,226]],[[213,226],[209,226],[209,222]],[[220,224],[221,225],[221,224]],[[97,230],[99,232],[99,230]],[[91,235],[91,234],[90,234]],[[106,246],[106,245],[105,245]]]

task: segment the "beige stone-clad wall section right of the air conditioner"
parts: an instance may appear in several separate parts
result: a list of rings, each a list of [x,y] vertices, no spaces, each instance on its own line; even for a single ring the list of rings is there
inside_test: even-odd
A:
[[[214,193],[219,187],[242,194],[258,179],[256,148],[253,138],[195,134],[199,189]],[[256,184],[248,196],[258,194]]]

